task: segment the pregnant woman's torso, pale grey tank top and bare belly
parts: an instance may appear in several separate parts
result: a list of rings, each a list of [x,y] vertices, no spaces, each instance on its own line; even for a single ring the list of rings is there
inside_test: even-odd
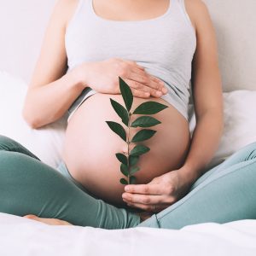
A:
[[[137,61],[168,85],[167,96],[134,98],[133,108],[148,100],[169,106],[154,115],[161,124],[154,126],[154,137],[143,142],[150,151],[137,164],[141,168],[135,175],[137,183],[148,183],[180,167],[189,148],[187,107],[195,32],[181,4],[180,0],[171,0],[166,13],[158,18],[113,21],[97,16],[91,0],[80,0],[67,27],[68,70],[83,61],[119,57]],[[63,159],[73,177],[92,193],[121,204],[124,186],[119,178],[124,176],[115,154],[125,150],[126,144],[106,124],[106,120],[120,122],[110,97],[123,104],[120,95],[95,91],[73,114],[67,126]]]

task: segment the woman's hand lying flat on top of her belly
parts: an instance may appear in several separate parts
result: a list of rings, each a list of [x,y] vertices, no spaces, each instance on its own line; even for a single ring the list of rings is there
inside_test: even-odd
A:
[[[136,61],[112,58],[84,62],[75,67],[73,73],[86,86],[101,93],[120,94],[118,77],[130,86],[133,96],[160,97],[167,92],[164,82],[148,74]]]

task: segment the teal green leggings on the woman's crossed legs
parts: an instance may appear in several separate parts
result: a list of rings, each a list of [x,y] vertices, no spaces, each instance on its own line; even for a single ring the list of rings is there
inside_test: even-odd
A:
[[[187,195],[142,223],[135,212],[90,195],[68,173],[61,172],[44,164],[20,143],[0,136],[0,212],[60,218],[109,230],[177,230],[189,224],[256,218],[256,143],[205,172]]]

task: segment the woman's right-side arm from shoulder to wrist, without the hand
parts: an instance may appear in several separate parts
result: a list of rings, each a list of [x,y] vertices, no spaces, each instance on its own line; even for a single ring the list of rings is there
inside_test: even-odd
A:
[[[194,183],[218,148],[224,117],[218,50],[212,21],[205,3],[200,0],[187,3],[191,15],[195,17],[197,38],[192,73],[196,125],[189,154],[180,171]]]

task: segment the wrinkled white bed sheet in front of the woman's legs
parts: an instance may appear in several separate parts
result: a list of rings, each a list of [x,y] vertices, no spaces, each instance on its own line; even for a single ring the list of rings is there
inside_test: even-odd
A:
[[[166,230],[54,226],[0,213],[0,255],[256,255],[256,220]]]

